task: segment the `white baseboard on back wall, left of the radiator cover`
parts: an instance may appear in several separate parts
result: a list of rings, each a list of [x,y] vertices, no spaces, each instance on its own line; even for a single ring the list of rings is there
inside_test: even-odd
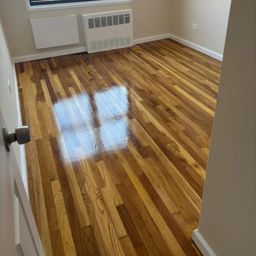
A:
[[[31,60],[40,60],[40,59],[46,59],[46,58],[52,58],[56,56],[62,56],[62,55],[68,55],[73,53],[80,53],[80,52],[86,52],[86,47],[76,47],[72,49],[65,49],[60,51],[54,51],[54,52],[44,52],[44,53],[37,53],[32,55],[25,55],[20,57],[13,58],[14,63],[19,63],[23,61],[31,61]]]

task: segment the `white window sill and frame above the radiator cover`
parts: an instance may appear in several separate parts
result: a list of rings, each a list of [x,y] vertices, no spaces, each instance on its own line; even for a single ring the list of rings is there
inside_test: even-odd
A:
[[[126,4],[126,3],[132,3],[133,0],[101,0],[101,1],[92,1],[92,2],[77,2],[77,3],[56,4],[56,5],[37,5],[37,6],[30,6],[29,0],[25,0],[25,1],[26,1],[27,11],[33,12],[33,11],[43,11],[43,10],[89,7],[89,6],[98,6],[98,5]]]

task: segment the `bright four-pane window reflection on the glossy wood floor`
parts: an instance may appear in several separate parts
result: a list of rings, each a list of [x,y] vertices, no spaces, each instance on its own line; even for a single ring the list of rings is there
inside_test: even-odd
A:
[[[62,148],[67,148],[71,162],[76,159],[74,148],[83,149],[83,157],[126,148],[129,136],[127,113],[128,91],[125,86],[94,94],[77,94],[54,104],[56,118],[62,132]],[[64,159],[63,159],[64,160]]]

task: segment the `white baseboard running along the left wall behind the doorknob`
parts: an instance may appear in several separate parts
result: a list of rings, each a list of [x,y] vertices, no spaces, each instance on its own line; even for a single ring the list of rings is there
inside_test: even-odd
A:
[[[13,74],[14,74],[14,87],[16,93],[16,104],[17,104],[17,111],[18,111],[18,125],[22,126],[22,118],[21,118],[21,111],[20,111],[20,98],[19,98],[19,90],[18,90],[18,83],[17,83],[17,76],[15,70],[15,63],[13,60]],[[27,164],[26,164],[26,155],[25,155],[25,146],[20,145],[20,158],[21,158],[21,176],[22,181],[24,183],[24,187],[29,198],[28,194],[28,176],[27,176]]]

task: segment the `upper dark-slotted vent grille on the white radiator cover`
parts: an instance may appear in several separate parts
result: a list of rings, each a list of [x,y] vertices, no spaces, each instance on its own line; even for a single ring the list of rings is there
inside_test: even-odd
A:
[[[120,15],[114,15],[114,16],[88,19],[89,29],[101,28],[101,27],[107,27],[107,26],[109,27],[109,26],[129,24],[129,23],[130,23],[130,14],[120,14]]]

